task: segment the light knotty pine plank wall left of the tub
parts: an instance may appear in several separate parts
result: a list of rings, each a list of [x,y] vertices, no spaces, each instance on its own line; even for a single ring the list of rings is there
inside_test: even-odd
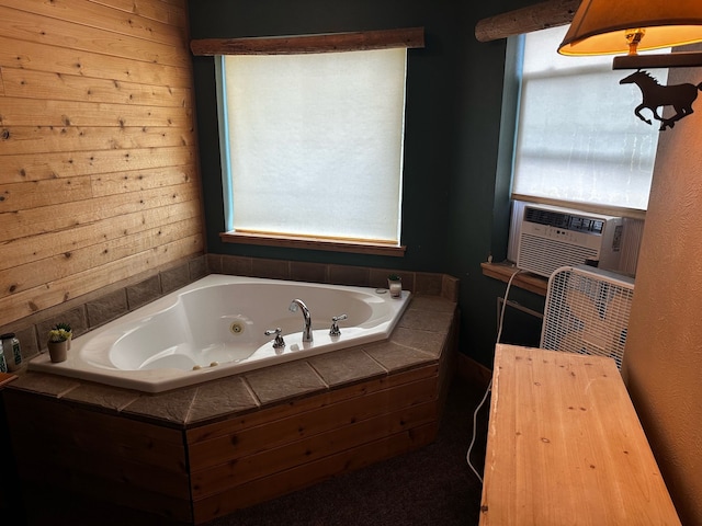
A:
[[[185,0],[0,0],[0,325],[204,251]]]

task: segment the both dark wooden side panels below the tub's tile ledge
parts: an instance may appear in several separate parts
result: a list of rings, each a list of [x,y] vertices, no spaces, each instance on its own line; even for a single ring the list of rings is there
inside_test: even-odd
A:
[[[63,503],[81,517],[110,505],[146,524],[206,523],[430,444],[453,354],[189,430],[5,389],[25,502],[42,502],[37,524],[57,524]]]

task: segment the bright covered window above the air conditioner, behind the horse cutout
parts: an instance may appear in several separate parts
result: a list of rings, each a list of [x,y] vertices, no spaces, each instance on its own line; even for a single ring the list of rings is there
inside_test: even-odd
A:
[[[619,83],[629,73],[611,56],[556,53],[567,28],[523,37],[513,196],[645,210],[658,126],[634,115],[641,92]]]

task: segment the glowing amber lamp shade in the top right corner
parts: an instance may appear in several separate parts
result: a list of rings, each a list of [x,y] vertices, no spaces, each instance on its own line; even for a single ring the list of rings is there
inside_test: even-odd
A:
[[[558,53],[630,53],[627,34],[637,30],[638,50],[702,42],[702,0],[582,0]]]

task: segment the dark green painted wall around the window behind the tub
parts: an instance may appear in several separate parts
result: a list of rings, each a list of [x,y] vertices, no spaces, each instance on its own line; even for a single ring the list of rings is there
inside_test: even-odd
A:
[[[495,261],[506,255],[509,174],[500,167],[496,175],[506,41],[479,43],[474,28],[484,18],[530,3],[534,2],[191,1],[192,38],[415,26],[426,31],[426,47],[408,52],[401,239],[407,253],[401,259],[222,243],[214,60],[194,57],[208,252],[452,274],[461,279],[461,348],[491,366],[496,298],[503,295],[505,284],[485,278],[480,263],[489,254]],[[539,306],[531,295],[513,294],[520,302]]]

